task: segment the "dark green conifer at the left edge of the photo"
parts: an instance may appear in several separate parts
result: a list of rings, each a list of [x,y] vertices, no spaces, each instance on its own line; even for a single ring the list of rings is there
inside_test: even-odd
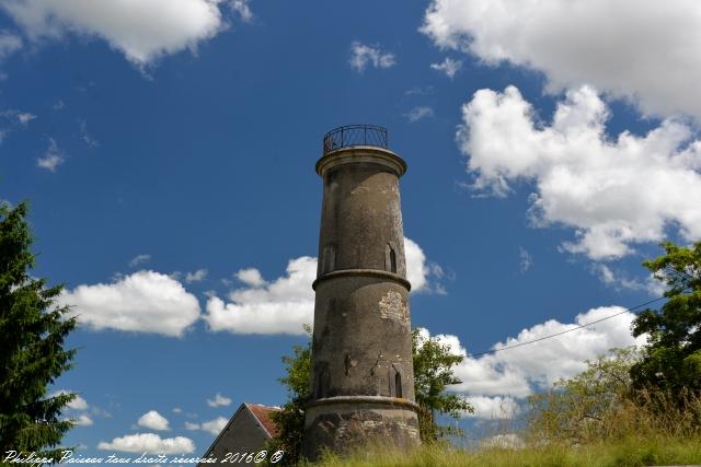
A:
[[[71,366],[64,350],[76,327],[68,306],[57,306],[62,285],[30,276],[34,255],[27,206],[0,206],[0,453],[35,452],[60,457],[57,447],[72,422],[61,411],[74,394],[49,397],[48,386]]]

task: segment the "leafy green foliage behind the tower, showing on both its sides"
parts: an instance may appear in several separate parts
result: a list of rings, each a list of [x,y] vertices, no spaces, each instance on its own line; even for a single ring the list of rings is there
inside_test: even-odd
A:
[[[292,355],[283,357],[286,375],[279,382],[287,387],[288,401],[283,410],[273,413],[278,434],[267,445],[268,452],[285,451],[281,464],[297,465],[301,458],[302,436],[304,433],[304,405],[311,397],[311,327],[306,326],[309,340],[304,346],[292,347]],[[424,338],[418,329],[412,332],[414,353],[414,381],[416,402],[420,406],[418,423],[422,440],[437,441],[450,434],[459,434],[450,427],[437,423],[436,416],[449,416],[459,419],[463,412],[473,408],[457,394],[447,393],[451,384],[461,382],[453,375],[452,369],[462,361],[461,355],[450,352],[448,346],[437,338]]]

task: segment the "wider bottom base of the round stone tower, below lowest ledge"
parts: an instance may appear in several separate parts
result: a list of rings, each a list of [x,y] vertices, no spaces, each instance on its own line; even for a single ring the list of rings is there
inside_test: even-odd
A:
[[[407,448],[421,444],[416,404],[382,396],[338,396],[307,406],[302,453],[344,454],[367,445]]]

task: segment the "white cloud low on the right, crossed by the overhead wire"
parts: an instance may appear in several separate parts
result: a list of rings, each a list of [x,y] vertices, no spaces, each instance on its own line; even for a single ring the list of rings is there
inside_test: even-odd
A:
[[[595,323],[620,314],[610,319]],[[578,314],[574,323],[547,320],[518,336],[492,347],[494,353],[471,357],[457,336],[436,336],[452,352],[464,357],[456,367],[462,384],[452,390],[466,394],[481,418],[509,418],[517,411],[518,399],[535,390],[550,387],[560,378],[577,375],[585,370],[585,360],[595,359],[612,348],[640,346],[644,337],[633,338],[630,326],[634,315],[620,306],[602,306]],[[577,326],[595,323],[577,329]],[[524,345],[533,340],[566,331],[561,336]],[[428,331],[422,330],[424,338]],[[519,346],[517,349],[503,350]]]

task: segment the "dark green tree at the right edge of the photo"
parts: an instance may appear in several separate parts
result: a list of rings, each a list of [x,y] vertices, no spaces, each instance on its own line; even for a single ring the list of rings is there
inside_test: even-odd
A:
[[[636,388],[701,395],[701,242],[662,245],[665,255],[643,262],[667,285],[660,310],[646,310],[633,322],[633,336],[650,335],[642,360],[631,376]]]

